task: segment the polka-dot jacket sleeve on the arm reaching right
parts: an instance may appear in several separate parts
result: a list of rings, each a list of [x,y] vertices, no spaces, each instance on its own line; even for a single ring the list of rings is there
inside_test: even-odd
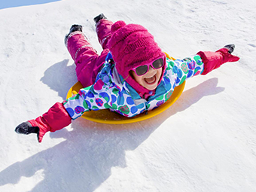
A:
[[[172,75],[175,78],[174,87],[182,84],[187,78],[200,75],[204,69],[199,55],[190,56],[185,59],[167,59],[166,62],[167,70],[172,69]]]

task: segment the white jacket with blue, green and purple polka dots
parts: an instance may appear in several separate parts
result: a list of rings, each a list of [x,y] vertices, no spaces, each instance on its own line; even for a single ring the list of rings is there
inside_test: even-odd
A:
[[[109,55],[111,56],[110,53]],[[95,84],[81,89],[77,95],[64,101],[64,107],[73,120],[80,117],[85,111],[105,108],[126,117],[133,117],[159,107],[169,99],[176,86],[182,84],[187,78],[200,75],[203,72],[203,62],[198,55],[182,60],[166,58],[166,65],[166,72],[157,87],[156,94],[149,97],[147,101],[133,99],[138,98],[139,94],[120,75],[119,80],[114,78],[114,64],[106,61],[97,75]],[[136,102],[136,100],[141,101]]]

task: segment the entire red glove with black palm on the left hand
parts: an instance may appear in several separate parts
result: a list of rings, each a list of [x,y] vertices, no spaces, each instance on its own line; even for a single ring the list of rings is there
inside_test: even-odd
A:
[[[63,127],[68,126],[71,120],[62,103],[56,102],[42,116],[37,117],[35,120],[21,123],[16,127],[15,131],[25,135],[36,133],[38,135],[38,142],[41,142],[45,133],[61,130]]]

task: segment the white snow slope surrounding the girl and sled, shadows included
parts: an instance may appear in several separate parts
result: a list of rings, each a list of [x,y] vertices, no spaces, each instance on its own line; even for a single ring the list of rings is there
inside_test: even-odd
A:
[[[0,191],[255,191],[254,1],[35,2],[6,1],[0,10]],[[231,43],[241,59],[187,81],[178,101],[150,120],[78,119],[41,144],[15,133],[75,84],[63,43],[72,24],[101,51],[93,23],[100,13],[142,24],[177,59]]]

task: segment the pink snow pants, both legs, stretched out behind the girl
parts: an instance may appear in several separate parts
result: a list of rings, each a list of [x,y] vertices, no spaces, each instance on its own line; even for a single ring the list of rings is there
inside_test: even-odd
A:
[[[112,24],[110,20],[102,19],[96,25],[98,40],[103,49],[100,55],[96,53],[82,32],[73,32],[69,35],[67,48],[75,61],[78,81],[84,87],[94,84],[96,76],[105,62],[105,57],[109,52],[108,41],[111,38]]]

